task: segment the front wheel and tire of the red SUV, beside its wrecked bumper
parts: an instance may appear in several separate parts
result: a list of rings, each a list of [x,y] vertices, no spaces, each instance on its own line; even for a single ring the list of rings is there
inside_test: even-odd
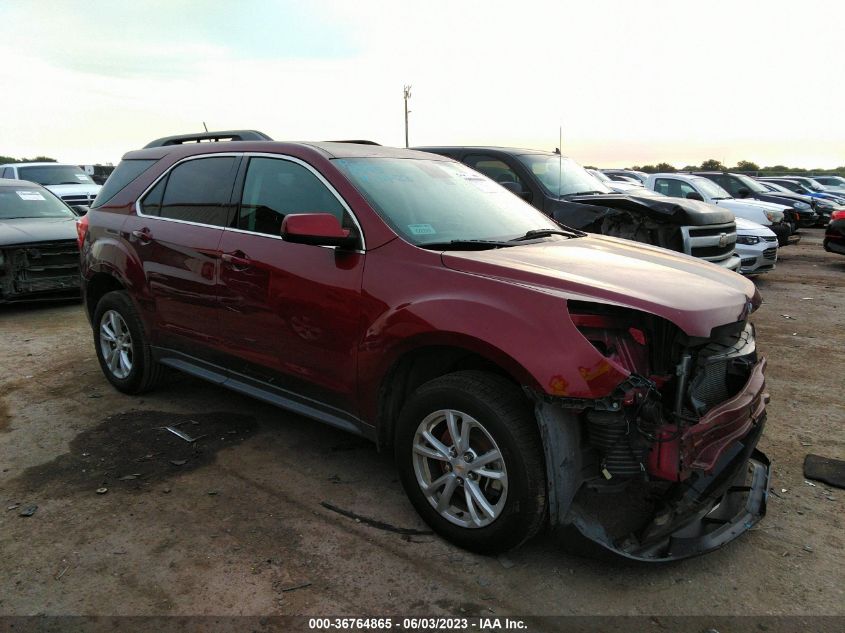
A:
[[[395,458],[417,512],[460,547],[506,551],[544,522],[545,466],[533,409],[500,376],[463,371],[422,385],[399,417]]]

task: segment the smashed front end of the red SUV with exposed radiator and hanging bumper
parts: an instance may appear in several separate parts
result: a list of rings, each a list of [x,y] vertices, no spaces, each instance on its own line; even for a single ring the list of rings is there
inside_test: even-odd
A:
[[[702,339],[645,313],[570,309],[629,376],[598,400],[537,399],[552,523],[570,539],[655,562],[710,551],[759,521],[768,394],[753,326],[738,321]]]

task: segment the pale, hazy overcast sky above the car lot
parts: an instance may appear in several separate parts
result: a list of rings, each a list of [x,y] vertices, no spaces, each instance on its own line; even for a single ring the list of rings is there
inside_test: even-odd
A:
[[[587,165],[845,165],[845,3],[0,0],[0,155],[154,138],[505,145]]]

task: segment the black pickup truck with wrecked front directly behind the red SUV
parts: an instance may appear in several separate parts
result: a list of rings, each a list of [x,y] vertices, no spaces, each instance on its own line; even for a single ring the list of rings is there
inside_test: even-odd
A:
[[[661,246],[730,270],[734,255],[733,213],[690,200],[671,200],[636,187],[615,193],[571,158],[508,147],[418,147],[454,158],[492,178],[556,221]]]

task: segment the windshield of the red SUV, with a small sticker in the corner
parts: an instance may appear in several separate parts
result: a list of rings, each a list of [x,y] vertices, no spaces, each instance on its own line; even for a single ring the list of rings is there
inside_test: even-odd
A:
[[[333,161],[406,241],[509,240],[560,226],[461,163],[407,158]]]

